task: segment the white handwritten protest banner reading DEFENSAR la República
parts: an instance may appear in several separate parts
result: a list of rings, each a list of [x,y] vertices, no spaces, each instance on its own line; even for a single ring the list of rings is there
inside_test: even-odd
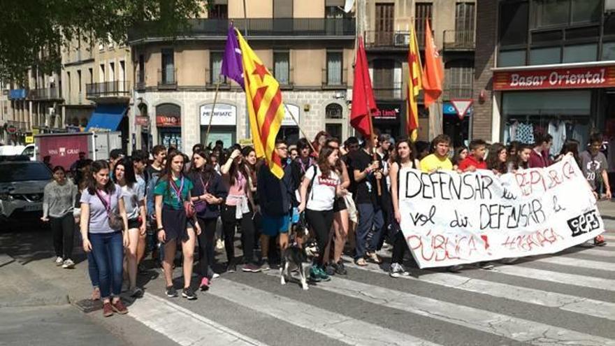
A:
[[[400,227],[420,268],[551,254],[605,231],[572,157],[495,175],[400,171]]]

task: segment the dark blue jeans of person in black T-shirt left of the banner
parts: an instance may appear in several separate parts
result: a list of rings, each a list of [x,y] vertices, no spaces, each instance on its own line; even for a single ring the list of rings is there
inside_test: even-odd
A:
[[[359,225],[356,226],[355,260],[365,257],[366,251],[376,251],[380,233],[382,233],[382,226],[384,225],[382,209],[377,208],[372,203],[357,204],[356,209],[359,211]],[[372,231],[373,236],[368,243],[370,231]]]

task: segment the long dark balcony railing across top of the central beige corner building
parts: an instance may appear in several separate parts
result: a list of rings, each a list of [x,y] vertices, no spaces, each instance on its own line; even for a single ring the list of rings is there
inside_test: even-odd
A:
[[[317,36],[352,38],[356,34],[354,18],[237,18],[194,19],[188,28],[178,30],[177,36],[226,37],[230,22],[244,36]],[[162,34],[157,22],[147,22],[129,31],[129,41],[155,38]],[[168,36],[168,35],[166,35]]]

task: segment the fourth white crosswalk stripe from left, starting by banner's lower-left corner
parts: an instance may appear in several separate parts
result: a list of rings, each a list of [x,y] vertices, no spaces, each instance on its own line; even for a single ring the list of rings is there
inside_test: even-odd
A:
[[[346,259],[350,259],[350,257],[346,257]],[[375,264],[361,267],[351,262],[345,264],[345,266],[381,275],[389,275],[389,273],[382,271],[382,269]],[[440,286],[461,289],[462,291],[486,294],[488,296],[506,298],[511,301],[519,301],[521,303],[547,306],[549,308],[559,308],[561,310],[577,312],[582,315],[615,321],[615,303],[606,301],[597,301],[595,299],[572,296],[570,294],[560,294],[557,292],[542,291],[540,289],[514,286],[512,284],[474,279],[460,274],[427,272],[419,278],[412,276],[402,276],[400,278],[428,282],[430,284],[439,284]]]

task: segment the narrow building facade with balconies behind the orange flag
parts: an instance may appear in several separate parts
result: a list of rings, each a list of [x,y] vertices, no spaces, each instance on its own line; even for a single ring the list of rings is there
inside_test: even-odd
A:
[[[475,1],[367,0],[366,52],[379,113],[374,125],[392,136],[405,135],[408,44],[417,30],[424,56],[426,22],[442,55],[446,80],[439,102],[426,110],[419,96],[419,140],[445,133],[461,145],[470,136],[472,111],[459,116],[451,101],[472,99]]]

